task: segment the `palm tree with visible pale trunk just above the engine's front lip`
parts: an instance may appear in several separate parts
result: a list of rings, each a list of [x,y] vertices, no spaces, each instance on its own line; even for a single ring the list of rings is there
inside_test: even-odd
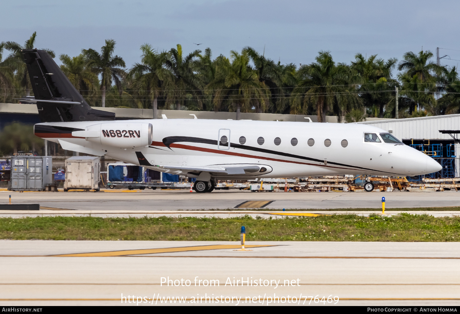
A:
[[[153,118],[157,118],[158,97],[162,94],[163,87],[173,89],[173,77],[164,67],[167,53],[157,53],[151,45],[141,46],[141,63],[136,63],[129,72],[133,78],[132,87],[134,94],[147,95],[151,98]]]

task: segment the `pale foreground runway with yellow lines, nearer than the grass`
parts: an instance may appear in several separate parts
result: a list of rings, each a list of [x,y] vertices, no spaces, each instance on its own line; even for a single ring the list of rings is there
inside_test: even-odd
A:
[[[0,304],[206,305],[211,297],[222,305],[218,297],[233,306],[333,306],[337,296],[338,305],[460,305],[460,243],[247,245],[253,251],[217,241],[1,240]]]

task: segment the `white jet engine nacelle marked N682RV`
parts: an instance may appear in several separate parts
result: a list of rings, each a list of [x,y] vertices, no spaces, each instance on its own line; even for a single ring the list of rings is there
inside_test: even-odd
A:
[[[152,143],[151,123],[108,122],[90,125],[84,131],[74,131],[72,136],[101,145],[119,148],[140,148]]]

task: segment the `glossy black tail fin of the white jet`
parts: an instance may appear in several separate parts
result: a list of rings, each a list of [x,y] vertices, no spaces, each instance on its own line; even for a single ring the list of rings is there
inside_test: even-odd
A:
[[[115,120],[115,113],[89,107],[45,50],[22,53],[41,122]]]

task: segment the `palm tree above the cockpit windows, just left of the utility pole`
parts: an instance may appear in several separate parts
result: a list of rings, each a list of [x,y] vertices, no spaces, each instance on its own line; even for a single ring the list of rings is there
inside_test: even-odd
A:
[[[360,98],[365,107],[377,106],[379,117],[384,117],[384,108],[390,101],[394,102],[393,92],[397,82],[391,79],[391,70],[395,67],[397,59],[377,59],[377,55],[365,58],[358,53],[351,68],[361,76],[359,87]]]

